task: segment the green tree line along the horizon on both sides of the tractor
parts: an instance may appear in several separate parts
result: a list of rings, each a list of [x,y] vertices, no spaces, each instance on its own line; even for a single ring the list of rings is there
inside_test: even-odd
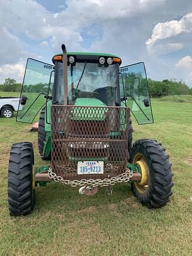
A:
[[[139,94],[139,90],[146,90],[146,85],[144,84],[145,79],[135,79],[135,74],[129,74],[128,84],[130,85],[129,90],[136,89],[136,93]],[[139,82],[139,85],[135,87],[135,82]],[[162,81],[154,81],[148,79],[149,93],[152,98],[158,98],[166,95],[192,95],[192,88],[188,87],[185,82],[176,81],[175,79],[164,79]],[[43,92],[47,91],[48,84],[39,83],[37,85],[24,85],[25,92]],[[0,84],[0,91],[4,92],[20,92],[22,84],[18,83],[15,79],[6,78],[4,84]],[[140,94],[141,94],[140,91]]]

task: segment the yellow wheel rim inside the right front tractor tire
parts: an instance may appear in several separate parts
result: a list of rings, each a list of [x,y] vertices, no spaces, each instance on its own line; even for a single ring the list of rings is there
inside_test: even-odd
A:
[[[147,160],[145,159],[145,156],[142,155],[142,153],[135,153],[133,158],[133,164],[138,165],[138,167],[141,169],[141,181],[135,182],[134,186],[135,189],[140,194],[144,194],[148,188],[149,188],[149,168],[147,164]]]

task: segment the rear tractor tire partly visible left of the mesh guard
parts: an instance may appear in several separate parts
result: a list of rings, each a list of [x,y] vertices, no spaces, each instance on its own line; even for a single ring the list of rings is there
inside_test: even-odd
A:
[[[40,119],[38,121],[38,152],[40,156],[44,160],[50,160],[51,155],[48,158],[45,158],[43,155],[44,141],[45,141],[46,133],[45,133],[45,108],[42,108],[40,113]]]

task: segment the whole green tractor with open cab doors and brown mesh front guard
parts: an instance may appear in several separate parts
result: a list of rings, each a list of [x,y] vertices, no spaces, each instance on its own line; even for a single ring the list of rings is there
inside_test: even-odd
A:
[[[132,145],[131,113],[138,124],[153,123],[144,63],[121,67],[115,55],[61,48],[53,65],[27,60],[17,121],[32,123],[41,111],[38,150],[48,162],[35,167],[31,142],[12,145],[9,214],[31,213],[35,187],[51,181],[87,196],[131,183],[142,205],[165,206],[173,187],[169,156],[156,140]]]

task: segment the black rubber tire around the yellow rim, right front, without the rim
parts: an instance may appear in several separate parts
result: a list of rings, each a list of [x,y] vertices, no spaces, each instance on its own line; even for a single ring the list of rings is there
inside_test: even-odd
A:
[[[165,206],[173,194],[173,173],[169,155],[157,140],[136,140],[131,151],[131,161],[136,152],[141,152],[148,163],[151,175],[151,184],[145,194],[140,194],[132,184],[132,191],[141,203],[148,208],[160,208]]]

